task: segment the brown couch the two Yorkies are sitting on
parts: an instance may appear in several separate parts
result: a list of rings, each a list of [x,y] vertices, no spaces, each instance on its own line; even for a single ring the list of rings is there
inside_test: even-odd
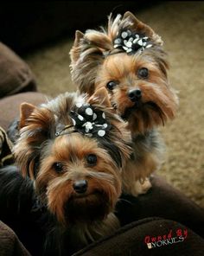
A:
[[[10,121],[19,115],[21,102],[29,101],[37,105],[45,97],[36,92],[35,77],[26,63],[3,44],[0,44],[0,70],[3,70],[0,73],[0,126],[7,130]],[[8,145],[6,140],[6,135],[2,133],[0,158],[5,157],[3,149]],[[153,186],[146,195],[137,198],[122,195],[116,209],[122,227],[115,234],[92,243],[74,255],[203,255],[204,210],[161,177],[152,176],[151,180]],[[39,256],[41,250],[36,253],[36,248],[41,246],[40,234],[33,220],[30,220],[29,228],[19,227],[2,213],[0,209],[2,221],[13,230],[0,222],[1,255],[31,253]],[[173,240],[168,242],[168,239]]]

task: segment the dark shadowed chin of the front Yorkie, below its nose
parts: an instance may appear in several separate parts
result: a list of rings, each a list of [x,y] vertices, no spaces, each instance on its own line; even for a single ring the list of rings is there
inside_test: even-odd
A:
[[[101,191],[89,195],[73,195],[65,206],[66,222],[70,225],[102,221],[110,213],[111,204],[107,195]]]

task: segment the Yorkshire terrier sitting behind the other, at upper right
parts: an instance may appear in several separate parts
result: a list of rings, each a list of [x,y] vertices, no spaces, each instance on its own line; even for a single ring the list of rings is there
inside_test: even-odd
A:
[[[134,156],[123,173],[123,190],[145,193],[151,186],[148,177],[163,161],[156,126],[175,117],[178,103],[161,37],[128,11],[109,16],[107,29],[76,31],[70,56],[80,92],[92,95],[106,87],[112,106],[128,121]]]

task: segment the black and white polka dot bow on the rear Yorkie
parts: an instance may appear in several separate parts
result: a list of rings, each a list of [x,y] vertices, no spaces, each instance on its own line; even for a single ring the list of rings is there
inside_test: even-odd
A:
[[[145,48],[151,48],[150,38],[131,32],[130,29],[122,30],[114,40],[114,48],[120,48],[127,54],[142,53]]]

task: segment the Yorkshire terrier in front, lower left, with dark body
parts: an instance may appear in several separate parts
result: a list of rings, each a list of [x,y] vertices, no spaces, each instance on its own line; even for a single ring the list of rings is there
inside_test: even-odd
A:
[[[52,241],[45,241],[52,246],[48,255],[67,255],[69,246],[79,249],[116,230],[114,208],[121,170],[131,155],[131,132],[112,109],[106,89],[89,98],[65,93],[41,106],[23,103],[19,127],[18,170],[0,170],[1,208],[13,207],[12,197],[19,213],[27,196],[33,197],[35,208],[54,219],[54,227],[48,223]],[[55,247],[60,249],[54,254]]]

